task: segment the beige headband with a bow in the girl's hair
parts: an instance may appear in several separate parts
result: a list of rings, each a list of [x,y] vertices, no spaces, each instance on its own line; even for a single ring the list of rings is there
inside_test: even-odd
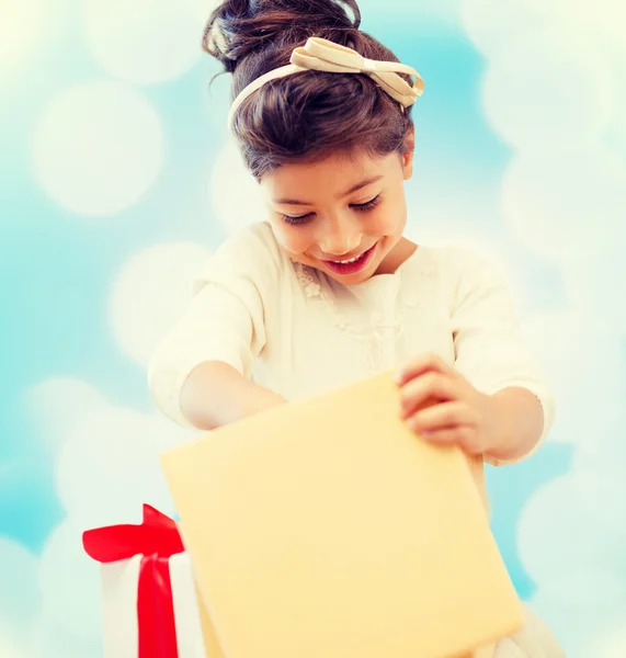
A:
[[[228,125],[232,126],[232,118],[241,103],[252,93],[261,89],[270,80],[284,78],[301,71],[326,71],[329,73],[364,73],[369,76],[378,87],[398,101],[402,107],[409,107],[422,95],[424,81],[418,71],[397,61],[378,61],[367,59],[356,50],[341,46],[326,38],[311,36],[306,45],[295,48],[291,63],[287,66],[274,69],[257,78],[235,99],[228,115]],[[414,78],[409,84],[398,73],[407,73]]]

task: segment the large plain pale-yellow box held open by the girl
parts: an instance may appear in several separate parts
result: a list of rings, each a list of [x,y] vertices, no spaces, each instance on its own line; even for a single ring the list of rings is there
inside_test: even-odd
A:
[[[486,658],[523,626],[468,460],[391,373],[161,461],[227,658]]]

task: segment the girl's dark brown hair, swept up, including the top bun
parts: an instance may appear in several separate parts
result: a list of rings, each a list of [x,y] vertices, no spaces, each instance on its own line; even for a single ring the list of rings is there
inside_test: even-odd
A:
[[[260,76],[289,64],[293,49],[309,36],[368,59],[398,61],[360,24],[355,0],[226,0],[208,21],[203,47],[232,73],[235,99]],[[306,71],[272,80],[249,97],[234,132],[246,164],[261,179],[283,163],[338,151],[402,152],[412,126],[409,110],[402,112],[368,76]]]

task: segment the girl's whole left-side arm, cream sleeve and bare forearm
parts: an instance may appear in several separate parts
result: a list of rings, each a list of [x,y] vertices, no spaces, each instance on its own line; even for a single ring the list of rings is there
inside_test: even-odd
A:
[[[212,430],[284,401],[250,381],[266,342],[269,305],[280,293],[280,254],[270,234],[253,227],[218,249],[150,360],[152,398],[183,427]]]

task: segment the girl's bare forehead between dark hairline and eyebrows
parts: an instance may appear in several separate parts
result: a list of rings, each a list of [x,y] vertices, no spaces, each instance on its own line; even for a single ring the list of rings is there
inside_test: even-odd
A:
[[[275,195],[315,192],[333,194],[361,181],[386,177],[398,167],[398,154],[371,156],[367,152],[334,154],[312,162],[293,162],[278,167],[261,180],[262,188]]]

